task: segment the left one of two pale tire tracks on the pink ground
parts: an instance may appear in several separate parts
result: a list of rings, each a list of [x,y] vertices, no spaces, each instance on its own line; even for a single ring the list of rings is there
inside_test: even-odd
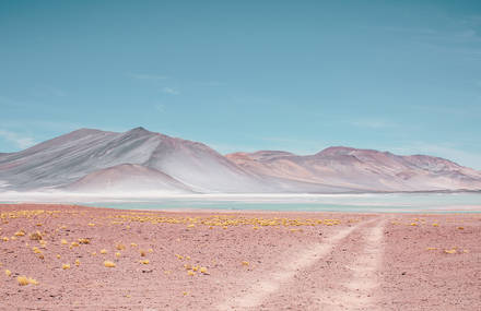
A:
[[[367,223],[371,222],[373,220]],[[364,224],[342,229],[335,236],[322,239],[320,243],[316,243],[302,252],[286,254],[282,267],[270,272],[261,279],[241,290],[239,294],[230,297],[218,309],[256,310],[269,295],[277,292],[283,284],[290,283],[298,271],[314,265],[317,261],[329,254],[339,241]]]

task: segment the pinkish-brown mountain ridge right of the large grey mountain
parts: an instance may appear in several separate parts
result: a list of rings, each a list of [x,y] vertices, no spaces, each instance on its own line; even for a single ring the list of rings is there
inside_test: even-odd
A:
[[[253,174],[359,191],[479,190],[481,172],[431,156],[329,147],[297,156],[262,151],[226,155]]]

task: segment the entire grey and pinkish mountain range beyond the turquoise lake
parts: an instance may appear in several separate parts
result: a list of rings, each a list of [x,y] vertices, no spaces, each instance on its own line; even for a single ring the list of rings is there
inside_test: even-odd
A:
[[[221,155],[143,128],[80,129],[0,153],[0,191],[363,193],[481,190],[481,171],[427,155],[328,147]]]

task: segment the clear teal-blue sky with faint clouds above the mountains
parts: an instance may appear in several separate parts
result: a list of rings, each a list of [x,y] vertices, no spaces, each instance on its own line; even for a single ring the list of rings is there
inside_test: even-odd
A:
[[[0,0],[0,153],[136,127],[481,169],[481,1]]]

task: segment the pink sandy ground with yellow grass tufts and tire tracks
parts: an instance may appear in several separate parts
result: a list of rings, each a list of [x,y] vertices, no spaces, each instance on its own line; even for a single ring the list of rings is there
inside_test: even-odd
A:
[[[0,213],[1,310],[481,310],[481,214]]]

